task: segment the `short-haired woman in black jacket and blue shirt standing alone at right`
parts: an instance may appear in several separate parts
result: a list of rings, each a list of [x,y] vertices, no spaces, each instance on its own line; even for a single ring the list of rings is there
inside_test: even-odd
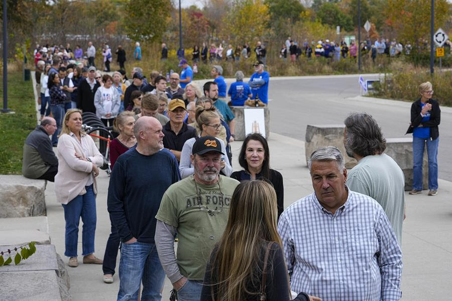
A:
[[[422,193],[422,161],[427,146],[428,195],[438,193],[438,142],[441,110],[433,96],[429,81],[418,88],[420,97],[411,105],[411,122],[406,134],[413,133],[413,189],[410,194]]]

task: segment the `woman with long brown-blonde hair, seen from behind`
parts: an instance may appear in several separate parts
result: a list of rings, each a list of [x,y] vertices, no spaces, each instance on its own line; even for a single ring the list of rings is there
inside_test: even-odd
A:
[[[206,266],[201,301],[292,299],[276,223],[273,187],[260,180],[240,183]],[[294,300],[320,299],[300,292]]]

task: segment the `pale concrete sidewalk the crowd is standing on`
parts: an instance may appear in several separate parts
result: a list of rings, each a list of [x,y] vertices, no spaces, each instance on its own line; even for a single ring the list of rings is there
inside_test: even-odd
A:
[[[242,142],[234,142],[233,166],[240,170],[237,156]],[[270,134],[269,146],[271,166],[284,177],[285,204],[287,207],[297,199],[312,192],[309,171],[305,164],[304,142],[275,133]],[[108,177],[101,171],[98,177],[97,229],[95,255],[103,258],[110,222],[106,210]],[[406,193],[407,219],[403,228],[402,251],[404,254],[402,290],[404,300],[450,300],[450,279],[452,278],[452,205],[450,194],[452,183],[439,181],[438,195],[427,196]],[[52,244],[64,257],[64,215],[63,208],[56,203],[53,183],[46,189],[47,215]],[[81,223],[80,223],[81,224]],[[79,254],[81,254],[81,225],[79,232]],[[79,256],[79,261],[81,256]],[[118,256],[119,262],[119,256]],[[118,270],[118,266],[117,266]],[[68,267],[70,292],[74,300],[116,300],[119,288],[118,274],[115,283],[102,281],[100,265],[80,264]],[[162,300],[168,300],[171,283],[167,279]]]

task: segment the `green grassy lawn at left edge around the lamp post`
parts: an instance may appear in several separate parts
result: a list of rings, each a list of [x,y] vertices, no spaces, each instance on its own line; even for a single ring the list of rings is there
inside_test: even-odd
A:
[[[0,77],[3,108],[3,77]],[[32,81],[23,81],[22,72],[8,73],[8,108],[16,114],[0,113],[0,174],[21,174],[24,141],[36,127]]]

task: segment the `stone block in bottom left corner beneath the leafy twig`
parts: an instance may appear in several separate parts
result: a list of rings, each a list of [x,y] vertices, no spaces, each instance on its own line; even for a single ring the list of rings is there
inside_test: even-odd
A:
[[[2,300],[71,300],[69,287],[66,267],[53,245],[36,245],[36,253],[18,265],[0,266]]]

